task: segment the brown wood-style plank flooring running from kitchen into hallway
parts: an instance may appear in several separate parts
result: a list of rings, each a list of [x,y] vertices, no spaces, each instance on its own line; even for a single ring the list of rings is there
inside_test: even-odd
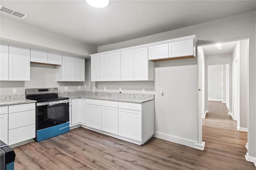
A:
[[[42,142],[14,148],[15,170],[250,170],[245,144],[247,133],[221,102],[209,102],[203,119],[205,150],[196,150],[158,138],[138,146],[79,127]]]

